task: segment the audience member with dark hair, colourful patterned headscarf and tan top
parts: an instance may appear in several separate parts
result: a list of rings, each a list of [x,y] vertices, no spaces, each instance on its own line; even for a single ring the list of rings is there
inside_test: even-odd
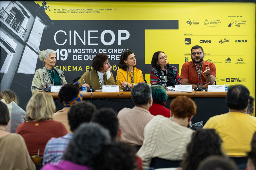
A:
[[[65,107],[53,114],[53,120],[63,123],[68,133],[72,133],[68,125],[68,111],[72,105],[83,100],[83,96],[79,93],[81,86],[78,82],[65,84],[58,94],[59,102],[64,103]]]

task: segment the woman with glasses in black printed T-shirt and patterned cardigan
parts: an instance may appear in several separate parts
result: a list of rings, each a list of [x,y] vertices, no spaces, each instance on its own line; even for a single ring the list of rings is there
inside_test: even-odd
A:
[[[150,84],[164,87],[174,87],[181,84],[176,67],[167,62],[167,55],[163,51],[154,53],[151,61]]]

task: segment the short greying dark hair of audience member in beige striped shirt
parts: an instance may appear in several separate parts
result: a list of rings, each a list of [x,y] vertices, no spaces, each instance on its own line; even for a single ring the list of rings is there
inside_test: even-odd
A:
[[[147,83],[138,83],[132,88],[131,96],[135,105],[146,105],[151,97],[151,88]]]

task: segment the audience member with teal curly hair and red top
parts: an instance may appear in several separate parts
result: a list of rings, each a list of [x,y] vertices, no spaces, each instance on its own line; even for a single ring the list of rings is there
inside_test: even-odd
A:
[[[166,89],[163,86],[155,85],[151,86],[153,104],[149,108],[149,112],[156,115],[163,115],[164,117],[171,117],[170,109],[164,107],[168,98]]]

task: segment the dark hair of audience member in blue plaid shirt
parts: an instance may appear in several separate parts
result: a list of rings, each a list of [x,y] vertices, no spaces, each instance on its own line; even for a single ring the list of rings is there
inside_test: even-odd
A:
[[[79,102],[72,105],[68,112],[68,124],[70,130],[74,132],[78,126],[84,122],[90,122],[96,107],[90,102]]]

